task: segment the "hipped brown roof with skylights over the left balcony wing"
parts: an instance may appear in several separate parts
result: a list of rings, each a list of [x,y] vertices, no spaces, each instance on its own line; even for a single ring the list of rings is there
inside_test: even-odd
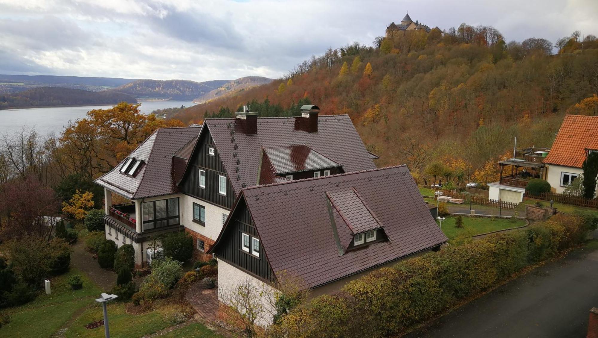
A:
[[[199,131],[195,126],[159,128],[129,155],[145,162],[135,177],[120,173],[120,167],[125,161],[123,160],[95,182],[131,200],[178,192],[173,174],[176,176],[180,168],[173,171],[173,164],[185,164],[173,161],[173,153],[197,137]]]

